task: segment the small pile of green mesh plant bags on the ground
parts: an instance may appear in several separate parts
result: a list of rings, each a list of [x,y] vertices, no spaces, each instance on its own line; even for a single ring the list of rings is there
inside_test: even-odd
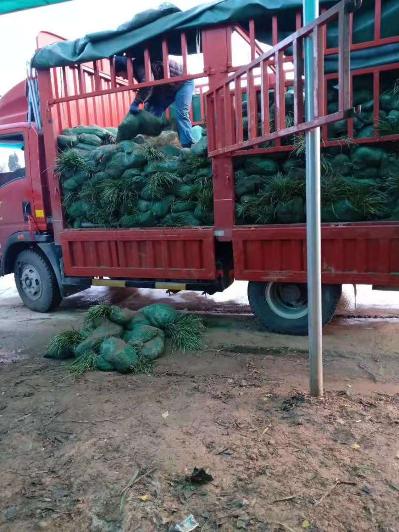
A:
[[[80,330],[62,331],[48,343],[45,358],[74,359],[69,369],[75,373],[140,372],[163,354],[165,338],[170,338],[172,351],[201,349],[204,329],[201,318],[170,305],[153,304],[138,311],[93,305]]]

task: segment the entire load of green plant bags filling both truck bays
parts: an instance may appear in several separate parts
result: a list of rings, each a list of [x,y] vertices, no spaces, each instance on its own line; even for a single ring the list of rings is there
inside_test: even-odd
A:
[[[397,220],[399,150],[397,143],[357,144],[373,135],[372,77],[353,79],[354,139],[347,121],[328,127],[322,148],[321,217],[323,222]],[[338,110],[334,82],[327,87],[328,112]],[[286,95],[286,123],[292,125],[294,96]],[[243,102],[247,136],[247,104]],[[275,103],[270,93],[270,126]],[[259,122],[261,117],[259,115]],[[78,126],[59,136],[57,171],[64,190],[70,227],[181,227],[214,223],[212,165],[207,137],[181,149],[167,123],[141,111],[114,128]],[[260,129],[260,126],[259,126]],[[399,83],[381,74],[378,134],[399,134]],[[144,135],[144,136],[143,136]],[[304,136],[282,138],[292,152],[235,157],[236,224],[303,223],[305,209]],[[261,147],[272,147],[273,143]]]

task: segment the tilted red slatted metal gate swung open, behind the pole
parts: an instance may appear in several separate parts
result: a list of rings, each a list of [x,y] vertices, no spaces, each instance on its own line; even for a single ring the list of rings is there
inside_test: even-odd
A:
[[[206,95],[208,137],[210,156],[235,152],[238,149],[257,146],[260,143],[304,131],[316,126],[342,120],[347,117],[351,108],[350,97],[350,12],[353,10],[352,0],[342,0],[330,10],[323,13],[317,20],[297,30],[292,36],[273,46],[250,64],[239,68],[233,76],[226,79],[217,88]],[[324,105],[324,43],[326,26],[338,19],[338,111],[326,113]],[[273,26],[274,27],[274,26]],[[252,32],[254,35],[254,32]],[[304,120],[303,102],[303,41],[312,37],[313,41],[313,83],[314,119]],[[293,55],[286,57],[287,48],[293,48]],[[286,74],[284,64],[294,65],[294,125],[286,125],[285,86]],[[254,81],[255,70],[261,72],[261,132],[257,125],[257,97]],[[273,72],[274,70],[274,72]],[[244,140],[242,82],[246,80],[248,140]],[[306,81],[306,80],[305,80]],[[270,95],[275,95],[275,128],[270,124]]]

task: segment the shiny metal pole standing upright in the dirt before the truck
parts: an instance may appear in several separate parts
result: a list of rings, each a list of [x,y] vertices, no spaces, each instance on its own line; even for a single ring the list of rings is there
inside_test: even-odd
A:
[[[319,16],[319,0],[303,0],[303,25]],[[313,48],[307,37],[305,54],[305,118],[313,113]],[[323,395],[321,337],[321,236],[320,236],[320,128],[306,131],[306,239],[307,239],[307,306],[309,309],[310,394]]]

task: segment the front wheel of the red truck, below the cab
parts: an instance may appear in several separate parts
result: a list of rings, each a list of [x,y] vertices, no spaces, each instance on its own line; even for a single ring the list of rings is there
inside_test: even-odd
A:
[[[36,312],[48,312],[61,301],[55,273],[46,257],[36,250],[24,250],[16,257],[15,284],[22,301]]]

